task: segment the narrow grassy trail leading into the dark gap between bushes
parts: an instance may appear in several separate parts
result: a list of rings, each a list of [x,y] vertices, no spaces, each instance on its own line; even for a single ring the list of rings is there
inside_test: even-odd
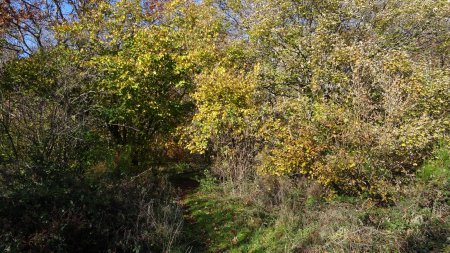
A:
[[[199,188],[198,176],[186,173],[170,179],[179,190],[187,248],[190,252],[248,251],[264,217],[239,200]]]

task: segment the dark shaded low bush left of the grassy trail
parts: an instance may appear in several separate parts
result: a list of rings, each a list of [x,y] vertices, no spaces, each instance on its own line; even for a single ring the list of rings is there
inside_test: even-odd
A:
[[[167,183],[58,178],[2,194],[1,251],[169,252],[180,239],[183,217]]]

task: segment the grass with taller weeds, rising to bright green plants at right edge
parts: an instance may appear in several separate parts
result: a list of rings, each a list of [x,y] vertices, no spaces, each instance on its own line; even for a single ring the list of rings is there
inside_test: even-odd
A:
[[[205,173],[181,201],[185,239],[190,252],[450,252],[449,168],[448,146],[440,145],[391,206],[325,201],[308,184],[265,206],[256,189],[236,196]]]

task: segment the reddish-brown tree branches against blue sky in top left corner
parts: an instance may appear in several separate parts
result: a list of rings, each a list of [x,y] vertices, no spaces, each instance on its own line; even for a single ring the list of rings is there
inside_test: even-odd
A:
[[[57,41],[53,27],[62,22],[77,20],[95,6],[97,1],[86,0],[5,0],[0,3],[0,29],[5,43],[3,49],[30,56],[38,49],[49,48]]]

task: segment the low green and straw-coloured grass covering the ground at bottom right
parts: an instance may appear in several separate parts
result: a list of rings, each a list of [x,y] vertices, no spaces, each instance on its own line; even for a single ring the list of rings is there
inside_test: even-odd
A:
[[[446,214],[405,200],[393,207],[322,203],[270,213],[238,198],[184,200],[191,252],[448,252]],[[446,212],[444,210],[444,212]],[[447,211],[448,212],[448,211]]]

